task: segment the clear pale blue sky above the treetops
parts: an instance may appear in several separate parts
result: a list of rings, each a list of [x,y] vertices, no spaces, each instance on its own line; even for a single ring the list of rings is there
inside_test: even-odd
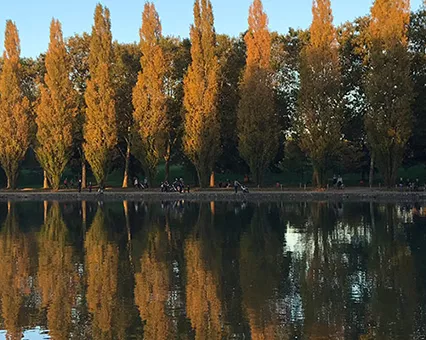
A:
[[[91,32],[93,13],[100,2],[111,12],[113,39],[123,43],[139,41],[145,0],[0,0],[0,51],[3,50],[6,20],[13,20],[21,39],[21,56],[36,57],[47,50],[52,18],[62,23],[65,37]],[[194,0],[153,0],[164,35],[189,36]],[[252,0],[211,0],[217,33],[238,36],[247,29]],[[411,0],[412,10],[422,0]],[[372,0],[331,0],[335,25],[368,14]],[[289,27],[308,28],[312,0],[263,0],[271,31],[286,33]]]

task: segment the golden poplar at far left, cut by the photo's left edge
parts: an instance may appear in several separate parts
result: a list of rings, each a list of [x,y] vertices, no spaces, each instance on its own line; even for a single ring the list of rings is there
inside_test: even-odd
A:
[[[0,76],[0,163],[7,176],[7,188],[15,189],[19,163],[30,144],[29,101],[21,86],[21,48],[16,25],[6,22],[5,51]]]

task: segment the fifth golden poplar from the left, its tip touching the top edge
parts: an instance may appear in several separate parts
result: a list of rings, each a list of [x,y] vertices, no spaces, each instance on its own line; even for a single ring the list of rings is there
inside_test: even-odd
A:
[[[194,3],[191,26],[192,63],[184,79],[184,151],[194,164],[199,185],[206,187],[220,149],[217,110],[219,63],[215,55],[216,34],[210,0]]]

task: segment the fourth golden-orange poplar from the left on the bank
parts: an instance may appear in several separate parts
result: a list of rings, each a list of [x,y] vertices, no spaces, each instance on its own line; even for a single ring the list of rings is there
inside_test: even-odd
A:
[[[149,182],[157,172],[167,141],[167,106],[164,89],[166,61],[160,45],[161,23],[153,3],[147,2],[142,14],[138,82],[133,90],[133,117],[142,148],[141,162]],[[150,183],[152,184],[152,183]]]

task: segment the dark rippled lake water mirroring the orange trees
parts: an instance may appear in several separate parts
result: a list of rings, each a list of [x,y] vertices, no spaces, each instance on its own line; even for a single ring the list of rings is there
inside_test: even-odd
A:
[[[413,208],[0,203],[0,338],[424,339]]]

